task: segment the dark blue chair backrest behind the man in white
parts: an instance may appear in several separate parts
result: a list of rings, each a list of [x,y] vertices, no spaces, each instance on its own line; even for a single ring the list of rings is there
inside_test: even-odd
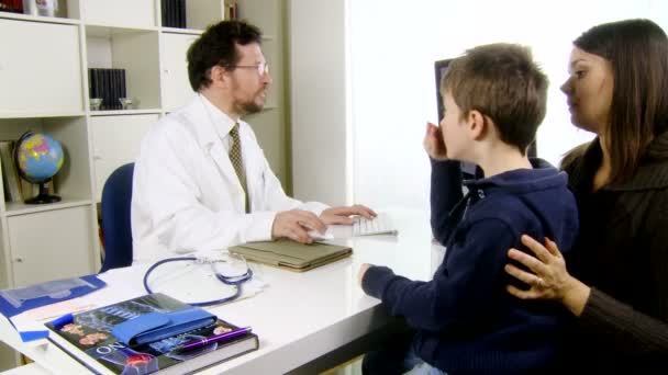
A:
[[[101,216],[104,261],[100,272],[132,264],[130,204],[134,162],[116,168],[102,190]]]

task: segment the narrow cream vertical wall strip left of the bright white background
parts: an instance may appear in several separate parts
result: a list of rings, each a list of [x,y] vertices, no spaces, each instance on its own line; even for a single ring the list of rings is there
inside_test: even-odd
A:
[[[288,4],[293,195],[332,205],[352,189],[345,14],[343,0]]]

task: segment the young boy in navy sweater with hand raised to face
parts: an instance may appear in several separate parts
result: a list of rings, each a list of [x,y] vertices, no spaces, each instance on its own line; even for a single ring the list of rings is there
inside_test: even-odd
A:
[[[443,77],[444,118],[439,129],[427,127],[425,137],[434,171],[442,164],[432,175],[432,209],[449,213],[432,220],[447,248],[443,263],[430,282],[407,280],[385,266],[359,270],[364,291],[415,330],[403,361],[394,362],[398,373],[520,374],[550,366],[564,316],[556,304],[511,296],[503,271],[508,250],[523,249],[523,234],[549,237],[567,250],[578,232],[566,174],[544,161],[532,166],[526,156],[545,117],[547,86],[531,52],[511,44],[472,48]],[[455,160],[483,172],[465,182],[463,200]],[[542,283],[536,277],[523,287]],[[367,355],[364,370],[374,373],[389,363],[378,353]]]

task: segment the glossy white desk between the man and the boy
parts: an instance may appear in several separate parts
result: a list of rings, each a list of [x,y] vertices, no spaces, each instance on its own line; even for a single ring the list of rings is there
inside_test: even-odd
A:
[[[313,361],[322,361],[327,353],[346,346],[348,355],[366,351],[368,348],[364,345],[349,346],[363,342],[365,337],[381,334],[393,320],[378,299],[365,295],[358,286],[359,264],[383,264],[398,274],[428,280],[444,252],[431,240],[425,213],[387,212],[396,221],[399,235],[349,239],[350,258],[304,273],[254,265],[268,286],[252,298],[214,307],[211,311],[233,323],[253,327],[260,339],[259,350],[201,373],[309,373],[325,370],[314,367]],[[133,293],[141,293],[142,269],[132,266],[116,272],[126,273],[127,281],[138,286]],[[53,372],[75,374],[84,371],[46,340],[37,345],[21,342],[4,318],[0,318],[0,340]],[[344,357],[335,361],[338,360]]]

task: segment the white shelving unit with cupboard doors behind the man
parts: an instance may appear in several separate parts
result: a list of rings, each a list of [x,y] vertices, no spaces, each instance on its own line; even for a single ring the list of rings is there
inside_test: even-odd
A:
[[[134,161],[152,124],[193,95],[186,50],[224,18],[225,2],[187,0],[187,29],[160,25],[160,0],[60,0],[54,18],[0,12],[0,139],[44,132],[65,151],[53,181],[62,202],[0,201],[0,289],[99,270],[97,209],[104,181]],[[274,78],[265,111],[247,121],[286,183],[285,0],[236,3],[240,18],[266,34],[263,49]],[[134,109],[90,111],[89,68],[125,69]],[[7,368],[2,359],[0,353],[0,370]]]

